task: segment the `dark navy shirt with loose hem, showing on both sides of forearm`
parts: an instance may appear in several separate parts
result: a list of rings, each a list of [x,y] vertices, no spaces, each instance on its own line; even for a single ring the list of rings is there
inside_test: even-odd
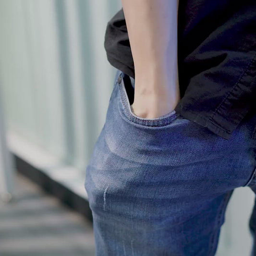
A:
[[[135,78],[122,9],[104,47],[110,64]],[[179,0],[178,70],[176,112],[228,140],[256,107],[256,0]]]

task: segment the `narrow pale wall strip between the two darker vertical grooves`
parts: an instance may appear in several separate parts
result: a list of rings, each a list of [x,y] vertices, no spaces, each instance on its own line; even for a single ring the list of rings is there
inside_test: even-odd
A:
[[[67,39],[69,53],[69,72],[71,85],[71,101],[73,105],[73,121],[74,125],[74,159],[73,165],[83,168],[88,161],[87,134],[85,125],[85,105],[83,104],[85,83],[82,75],[83,65],[81,58],[81,39],[80,26],[78,20],[78,4],[76,0],[63,1],[65,6],[65,15],[67,17]]]

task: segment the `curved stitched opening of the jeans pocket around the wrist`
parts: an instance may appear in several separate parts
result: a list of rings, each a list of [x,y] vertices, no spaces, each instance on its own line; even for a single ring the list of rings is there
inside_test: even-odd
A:
[[[128,118],[131,122],[151,127],[165,126],[176,120],[179,114],[175,110],[171,110],[169,113],[156,117],[156,118],[142,118],[136,116],[131,109],[131,97],[127,94],[127,88],[132,86],[128,83],[129,76],[123,72],[119,73],[118,84],[121,102],[119,104],[119,110]]]

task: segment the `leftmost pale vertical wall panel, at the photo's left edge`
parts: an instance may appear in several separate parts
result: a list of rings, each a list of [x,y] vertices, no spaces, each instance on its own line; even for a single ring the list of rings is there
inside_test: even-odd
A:
[[[7,124],[33,139],[33,102],[31,71],[26,44],[22,1],[1,1],[0,78]]]

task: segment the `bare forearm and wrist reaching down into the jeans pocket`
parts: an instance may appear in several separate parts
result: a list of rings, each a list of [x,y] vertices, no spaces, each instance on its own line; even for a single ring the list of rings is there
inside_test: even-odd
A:
[[[156,118],[180,100],[177,66],[179,0],[122,0],[134,60],[132,110]]]

